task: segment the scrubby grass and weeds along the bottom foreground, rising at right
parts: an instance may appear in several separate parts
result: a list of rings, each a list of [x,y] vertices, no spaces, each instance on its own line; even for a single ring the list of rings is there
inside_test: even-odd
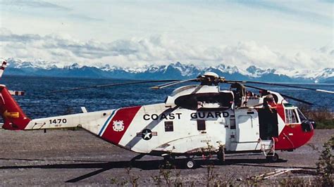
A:
[[[160,167],[156,175],[151,176],[151,180],[144,183],[145,186],[334,186],[334,160],[332,148],[334,146],[334,136],[332,136],[323,148],[313,147],[321,155],[316,162],[316,171],[312,176],[295,175],[293,172],[285,174],[278,178],[264,179],[261,177],[249,177],[247,179],[237,178],[235,175],[230,176],[230,179],[224,179],[224,173],[216,171],[214,165],[208,165],[206,172],[202,176],[197,176],[197,179],[189,181],[181,174],[180,169],[173,168],[173,165],[168,165],[168,168]],[[184,170],[183,172],[190,172]],[[125,169],[128,177],[111,178],[113,186],[142,186],[140,176],[131,173],[131,168]],[[146,177],[147,178],[147,177]],[[148,177],[149,178],[149,177]],[[145,180],[145,179],[144,179]]]

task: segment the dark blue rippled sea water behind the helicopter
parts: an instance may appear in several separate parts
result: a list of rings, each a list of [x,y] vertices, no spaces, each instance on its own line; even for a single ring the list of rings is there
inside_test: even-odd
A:
[[[173,89],[185,85],[180,84],[167,87],[166,89],[154,90],[150,89],[150,87],[155,86],[156,84],[150,83],[50,93],[51,91],[59,91],[63,89],[136,81],[119,79],[6,76],[3,77],[0,82],[0,84],[5,84],[10,90],[25,91],[25,96],[15,96],[15,98],[21,108],[23,108],[23,111],[25,111],[26,115],[31,118],[78,113],[82,112],[80,107],[85,107],[89,112],[92,112],[135,105],[163,103],[166,96],[171,94]],[[252,84],[252,86],[277,91],[288,96],[315,103],[316,105],[314,105],[314,108],[328,108],[328,110],[334,111],[333,93],[321,93],[304,89],[259,84]],[[334,84],[299,84],[298,86],[334,91]],[[229,89],[229,85],[221,84],[221,89]],[[254,91],[255,93],[259,92],[254,89],[251,89],[251,91]],[[294,105],[299,105],[299,103],[290,99],[287,99],[287,101]]]

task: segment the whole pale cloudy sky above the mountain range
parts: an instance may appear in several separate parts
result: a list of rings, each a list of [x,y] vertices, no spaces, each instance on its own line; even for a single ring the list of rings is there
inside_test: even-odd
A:
[[[322,70],[334,67],[333,2],[0,0],[0,57]]]

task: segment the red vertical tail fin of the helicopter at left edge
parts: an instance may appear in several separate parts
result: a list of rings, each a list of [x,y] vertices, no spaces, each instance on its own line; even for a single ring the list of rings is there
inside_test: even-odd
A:
[[[23,130],[31,121],[4,85],[0,85],[0,113],[4,118],[4,129]]]

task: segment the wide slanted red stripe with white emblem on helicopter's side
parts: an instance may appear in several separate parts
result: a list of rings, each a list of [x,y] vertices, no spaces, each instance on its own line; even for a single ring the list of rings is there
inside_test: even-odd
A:
[[[114,144],[118,144],[120,142],[120,139],[125,134],[125,131],[130,126],[133,118],[137,114],[138,110],[140,110],[141,106],[135,106],[131,108],[122,108],[116,112],[113,119],[108,124],[108,127],[106,127],[106,130],[104,131],[104,134],[102,134],[102,138],[104,140],[109,141]],[[124,130],[123,131],[114,131],[113,130],[113,122],[114,121],[123,121]]]

